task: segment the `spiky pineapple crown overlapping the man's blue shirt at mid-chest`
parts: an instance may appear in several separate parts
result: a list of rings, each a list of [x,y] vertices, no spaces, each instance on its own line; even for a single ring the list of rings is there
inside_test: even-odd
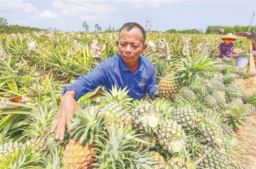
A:
[[[110,103],[118,103],[121,106],[128,108],[132,103],[133,99],[128,96],[129,90],[127,90],[127,87],[123,89],[117,89],[116,85],[113,87],[112,90],[110,90],[110,93],[107,91],[104,91],[101,97],[101,105],[105,106]]]

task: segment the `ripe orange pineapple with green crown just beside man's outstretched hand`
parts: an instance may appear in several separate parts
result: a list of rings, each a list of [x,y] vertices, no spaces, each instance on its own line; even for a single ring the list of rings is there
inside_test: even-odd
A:
[[[96,148],[95,141],[99,141],[105,126],[104,115],[98,107],[88,106],[84,110],[76,111],[75,117],[70,119],[73,123],[69,129],[74,129],[63,152],[64,167],[69,169],[90,168],[94,162]]]

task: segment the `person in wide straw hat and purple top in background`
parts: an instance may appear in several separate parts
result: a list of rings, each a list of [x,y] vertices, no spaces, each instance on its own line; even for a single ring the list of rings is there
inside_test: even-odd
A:
[[[234,44],[231,43],[231,41],[236,40],[236,35],[228,33],[227,35],[223,35],[221,39],[225,42],[218,46],[219,49],[221,50],[219,58],[223,58],[224,56],[233,58],[232,54],[235,54],[236,51],[234,50]]]

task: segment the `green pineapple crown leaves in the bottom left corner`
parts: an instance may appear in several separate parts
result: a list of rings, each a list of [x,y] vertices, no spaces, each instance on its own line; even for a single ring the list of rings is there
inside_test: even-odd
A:
[[[15,150],[13,154],[7,153],[7,157],[0,156],[1,169],[36,169],[36,164],[40,161],[41,154],[33,152],[32,148]]]

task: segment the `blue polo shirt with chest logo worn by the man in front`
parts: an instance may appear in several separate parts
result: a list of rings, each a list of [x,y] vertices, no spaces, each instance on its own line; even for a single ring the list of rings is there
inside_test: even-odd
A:
[[[155,67],[146,57],[139,57],[139,66],[133,73],[124,64],[121,55],[113,56],[101,62],[92,72],[80,76],[73,84],[63,89],[62,95],[67,90],[76,92],[75,100],[93,91],[99,86],[104,86],[109,92],[112,86],[129,89],[128,95],[135,99],[141,99],[146,93],[154,95],[157,92],[155,84]]]

